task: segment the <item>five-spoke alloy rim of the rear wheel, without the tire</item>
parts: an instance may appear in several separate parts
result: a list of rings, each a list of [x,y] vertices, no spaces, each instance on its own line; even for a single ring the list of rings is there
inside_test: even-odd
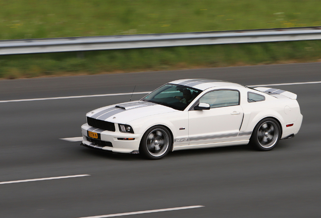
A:
[[[276,123],[266,121],[257,130],[257,141],[263,148],[271,148],[278,142],[279,135]]]

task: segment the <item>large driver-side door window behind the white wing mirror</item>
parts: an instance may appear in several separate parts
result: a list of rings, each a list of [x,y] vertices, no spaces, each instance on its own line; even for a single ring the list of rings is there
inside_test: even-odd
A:
[[[210,108],[233,106],[239,104],[240,95],[236,90],[217,90],[206,93],[199,99],[200,103],[208,103]]]

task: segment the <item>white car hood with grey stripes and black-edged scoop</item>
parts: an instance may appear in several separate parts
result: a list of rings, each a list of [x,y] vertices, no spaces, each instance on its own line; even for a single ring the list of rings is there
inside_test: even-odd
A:
[[[126,124],[142,117],[176,111],[171,107],[160,104],[146,101],[131,101],[101,107],[89,112],[86,116],[97,120]]]

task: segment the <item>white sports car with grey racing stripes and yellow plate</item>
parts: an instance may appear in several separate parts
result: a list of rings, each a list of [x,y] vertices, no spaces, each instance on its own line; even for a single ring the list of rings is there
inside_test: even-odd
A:
[[[296,97],[219,80],[176,80],[139,101],[89,112],[81,145],[150,159],[169,151],[249,142],[267,151],[298,133],[303,117]]]

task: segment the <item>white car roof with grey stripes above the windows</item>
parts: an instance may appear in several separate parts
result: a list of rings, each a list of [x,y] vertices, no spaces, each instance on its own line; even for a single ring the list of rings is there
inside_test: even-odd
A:
[[[231,87],[244,87],[237,83],[222,81],[222,80],[211,80],[211,79],[182,79],[175,80],[170,82],[172,84],[185,85],[189,87],[193,87],[200,90],[205,90],[211,87],[217,86],[231,86]]]

